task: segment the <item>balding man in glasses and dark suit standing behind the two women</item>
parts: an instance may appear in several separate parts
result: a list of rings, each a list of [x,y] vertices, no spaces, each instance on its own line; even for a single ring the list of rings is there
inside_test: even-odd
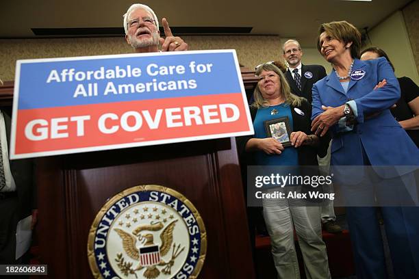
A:
[[[288,63],[288,70],[285,72],[285,77],[290,83],[292,93],[307,99],[309,104],[312,103],[312,88],[313,84],[326,77],[325,67],[321,65],[303,65],[301,63],[300,43],[296,40],[288,40],[282,47],[283,58]],[[330,146],[327,155],[323,158],[318,157],[318,164],[323,173],[329,173],[330,165]],[[333,191],[333,189],[328,189]],[[328,233],[340,233],[342,228],[335,224],[336,215],[333,209],[333,201],[325,203],[322,206],[322,224]]]

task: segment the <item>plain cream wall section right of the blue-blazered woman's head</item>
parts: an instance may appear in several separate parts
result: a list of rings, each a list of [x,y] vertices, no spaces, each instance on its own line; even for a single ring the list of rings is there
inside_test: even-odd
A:
[[[396,76],[410,77],[419,84],[418,69],[416,68],[403,13],[401,11],[395,12],[368,33],[372,45],[383,49],[392,60],[394,68],[396,68]]]

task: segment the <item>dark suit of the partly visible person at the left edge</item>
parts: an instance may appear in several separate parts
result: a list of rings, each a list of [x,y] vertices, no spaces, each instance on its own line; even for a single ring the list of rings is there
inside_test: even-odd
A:
[[[0,111],[4,117],[8,146],[10,146],[12,110],[8,107],[0,107]],[[0,264],[24,264],[29,260],[27,257],[22,256],[17,261],[15,259],[16,226],[20,220],[31,215],[32,209],[36,208],[34,163],[31,159],[18,159],[9,160],[9,164],[16,191],[0,193]]]

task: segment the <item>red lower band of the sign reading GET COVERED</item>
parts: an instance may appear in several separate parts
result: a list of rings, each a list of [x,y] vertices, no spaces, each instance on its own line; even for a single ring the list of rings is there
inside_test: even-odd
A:
[[[250,131],[246,105],[232,93],[19,110],[15,155]]]

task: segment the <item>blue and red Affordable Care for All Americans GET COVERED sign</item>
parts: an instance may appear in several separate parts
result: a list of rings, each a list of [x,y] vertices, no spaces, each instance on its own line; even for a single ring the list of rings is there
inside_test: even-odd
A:
[[[253,133],[233,50],[16,64],[11,159]]]

